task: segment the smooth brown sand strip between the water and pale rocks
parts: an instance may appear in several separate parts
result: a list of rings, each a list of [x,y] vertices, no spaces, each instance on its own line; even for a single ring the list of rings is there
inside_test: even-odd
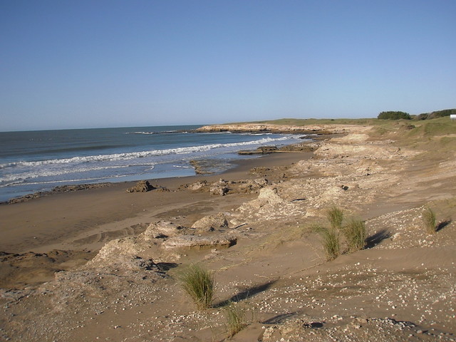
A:
[[[25,202],[0,205],[2,227],[0,252],[47,252],[50,249],[75,249],[71,240],[83,239],[84,234],[98,234],[118,230],[123,225],[140,224],[147,212],[165,210],[167,206],[185,206],[191,202],[203,201],[205,194],[187,194],[179,191],[185,183],[207,180],[252,179],[253,167],[275,167],[291,164],[311,157],[311,152],[284,152],[261,155],[246,160],[235,160],[234,167],[217,175],[192,175],[149,180],[157,188],[170,192],[128,193],[137,181],[105,183],[100,187],[88,187],[70,192],[51,192]],[[237,196],[237,195],[230,195]],[[216,198],[216,197],[215,197]],[[227,198],[227,197],[223,197]],[[150,208],[154,209],[150,209]],[[103,226],[101,228],[98,228]],[[86,249],[100,248],[106,242],[89,244]]]

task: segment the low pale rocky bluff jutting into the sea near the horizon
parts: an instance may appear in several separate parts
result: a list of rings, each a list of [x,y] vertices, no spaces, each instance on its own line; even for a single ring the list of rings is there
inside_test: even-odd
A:
[[[269,123],[233,123],[205,125],[197,128],[199,133],[288,133],[288,134],[342,134],[352,125],[274,125]]]

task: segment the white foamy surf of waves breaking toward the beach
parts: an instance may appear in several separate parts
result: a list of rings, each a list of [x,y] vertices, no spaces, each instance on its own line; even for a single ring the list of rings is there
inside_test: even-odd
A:
[[[243,146],[254,147],[257,145],[291,139],[296,139],[296,137],[264,137],[253,141],[176,147],[165,150],[148,150],[109,155],[88,155],[63,159],[9,162],[0,165],[0,187],[8,187],[24,183],[40,184],[47,182],[73,182],[76,181],[74,180],[75,178],[78,178],[78,174],[81,177],[77,181],[98,180],[103,179],[103,177],[124,177],[125,175],[132,174],[133,172],[141,174],[144,170],[150,171],[154,168],[154,165],[161,164],[163,162],[190,160],[194,157],[211,157],[211,155],[236,152]],[[213,152],[207,152],[209,150],[213,150]],[[179,155],[179,157],[172,157],[172,155]],[[177,165],[174,166],[177,167]],[[110,172],[111,175],[106,175],[106,172],[103,172],[103,170],[115,170],[126,167],[135,167],[135,169],[130,172]],[[100,177],[95,177],[93,172],[99,172],[99,175],[97,176]],[[53,178],[53,180],[49,180],[50,178]]]

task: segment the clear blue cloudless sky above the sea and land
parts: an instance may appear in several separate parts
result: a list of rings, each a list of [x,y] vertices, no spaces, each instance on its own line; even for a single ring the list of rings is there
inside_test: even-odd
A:
[[[0,0],[0,130],[456,107],[455,0]]]

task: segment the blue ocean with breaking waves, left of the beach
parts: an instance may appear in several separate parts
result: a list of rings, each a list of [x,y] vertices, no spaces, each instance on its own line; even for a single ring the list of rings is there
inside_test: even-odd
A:
[[[0,132],[0,202],[58,185],[195,175],[190,160],[216,160],[214,172],[263,145],[298,135],[195,133],[199,125]]]

